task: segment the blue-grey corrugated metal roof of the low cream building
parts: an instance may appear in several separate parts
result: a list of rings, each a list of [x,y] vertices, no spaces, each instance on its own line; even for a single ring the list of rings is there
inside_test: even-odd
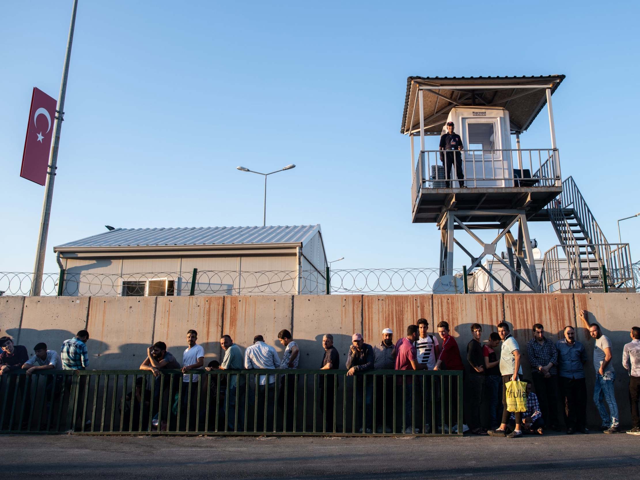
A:
[[[116,228],[54,247],[237,245],[307,243],[320,225],[275,227]]]

